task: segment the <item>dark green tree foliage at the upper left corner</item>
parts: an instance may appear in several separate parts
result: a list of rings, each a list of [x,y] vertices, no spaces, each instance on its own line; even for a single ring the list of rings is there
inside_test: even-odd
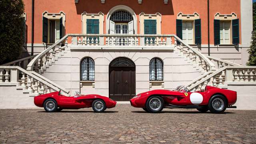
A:
[[[0,64],[16,60],[22,52],[22,0],[0,0]]]

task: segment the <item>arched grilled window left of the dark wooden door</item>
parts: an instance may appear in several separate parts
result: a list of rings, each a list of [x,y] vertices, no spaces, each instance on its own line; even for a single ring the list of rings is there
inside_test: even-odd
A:
[[[94,60],[84,58],[81,62],[81,80],[94,80]]]

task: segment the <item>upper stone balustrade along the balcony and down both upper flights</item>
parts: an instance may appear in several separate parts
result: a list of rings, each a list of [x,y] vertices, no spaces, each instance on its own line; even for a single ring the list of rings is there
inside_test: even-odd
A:
[[[68,43],[70,41],[71,43]],[[177,41],[180,42],[180,45],[177,45]],[[180,52],[190,58],[193,64],[198,65],[203,71],[216,70],[214,64],[206,56],[173,34],[67,34],[38,54],[28,64],[27,70],[39,71],[42,65],[56,58],[56,55],[62,51],[60,45],[64,42],[65,46],[174,46],[179,47]],[[56,46],[60,46],[58,51],[55,50]]]

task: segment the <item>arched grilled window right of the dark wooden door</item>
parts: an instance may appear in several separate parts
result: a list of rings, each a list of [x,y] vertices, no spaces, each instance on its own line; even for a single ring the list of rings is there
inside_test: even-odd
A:
[[[163,63],[159,58],[152,58],[149,62],[149,80],[163,80]]]

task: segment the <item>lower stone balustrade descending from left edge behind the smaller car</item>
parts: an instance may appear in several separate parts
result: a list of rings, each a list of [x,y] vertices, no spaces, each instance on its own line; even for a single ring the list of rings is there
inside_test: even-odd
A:
[[[22,78],[19,78],[19,72]],[[26,81],[27,80],[27,81]],[[46,94],[49,92],[62,90],[64,95],[68,95],[68,90],[60,88],[57,84],[46,81],[19,66],[0,66],[0,82],[19,82],[26,92],[31,94]]]

